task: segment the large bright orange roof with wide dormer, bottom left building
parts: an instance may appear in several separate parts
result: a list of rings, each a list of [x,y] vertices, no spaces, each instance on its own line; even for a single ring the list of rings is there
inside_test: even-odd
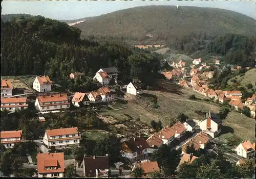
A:
[[[64,153],[45,153],[37,154],[37,172],[38,173],[57,173],[64,172]],[[54,170],[46,170],[45,167],[57,167]]]

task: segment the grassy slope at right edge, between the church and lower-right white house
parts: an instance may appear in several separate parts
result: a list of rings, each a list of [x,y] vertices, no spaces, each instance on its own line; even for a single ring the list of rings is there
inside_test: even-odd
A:
[[[255,141],[255,119],[246,117],[238,112],[229,112],[223,120],[224,131],[220,136],[223,141],[232,136],[232,133],[243,140]],[[225,127],[229,126],[229,127]]]

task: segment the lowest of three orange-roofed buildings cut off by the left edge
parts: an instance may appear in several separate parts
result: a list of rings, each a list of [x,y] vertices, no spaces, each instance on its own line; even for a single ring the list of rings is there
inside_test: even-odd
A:
[[[1,131],[1,144],[5,148],[13,148],[19,142],[22,142],[22,131]]]

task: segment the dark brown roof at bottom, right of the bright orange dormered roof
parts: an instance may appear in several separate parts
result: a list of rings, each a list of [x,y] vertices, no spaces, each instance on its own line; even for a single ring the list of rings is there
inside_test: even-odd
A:
[[[84,157],[86,176],[95,177],[96,169],[105,170],[110,168],[108,156]]]

